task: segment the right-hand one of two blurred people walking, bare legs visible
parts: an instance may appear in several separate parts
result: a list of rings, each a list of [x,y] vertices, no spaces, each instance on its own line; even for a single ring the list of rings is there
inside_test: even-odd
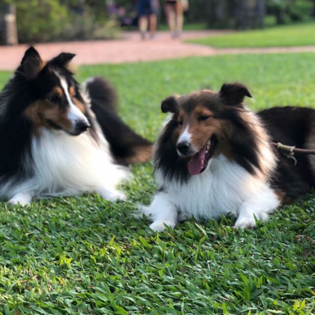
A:
[[[188,0],[165,0],[164,10],[172,38],[179,37],[183,31],[183,11],[188,10]]]

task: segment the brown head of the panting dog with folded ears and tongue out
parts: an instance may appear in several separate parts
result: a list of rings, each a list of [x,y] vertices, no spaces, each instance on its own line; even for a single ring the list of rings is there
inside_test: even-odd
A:
[[[218,93],[203,90],[162,101],[162,112],[173,113],[171,141],[187,160],[189,174],[202,173],[220,154],[233,154],[231,141],[235,126],[242,124],[245,96],[252,97],[244,85],[234,83],[223,84]]]

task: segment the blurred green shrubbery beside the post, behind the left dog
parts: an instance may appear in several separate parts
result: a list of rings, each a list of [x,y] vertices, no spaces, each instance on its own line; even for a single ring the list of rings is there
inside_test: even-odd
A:
[[[19,42],[105,39],[118,36],[115,21],[101,19],[87,3],[76,10],[70,0],[8,0],[16,5]],[[78,3],[78,1],[76,1]],[[97,18],[98,17],[98,18]]]

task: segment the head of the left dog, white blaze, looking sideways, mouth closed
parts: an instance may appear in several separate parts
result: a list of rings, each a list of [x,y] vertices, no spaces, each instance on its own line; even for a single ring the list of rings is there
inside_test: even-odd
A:
[[[87,105],[68,69],[74,56],[61,53],[44,63],[33,47],[25,52],[15,76],[23,80],[27,90],[23,115],[35,127],[62,129],[70,135],[79,135],[89,128]]]

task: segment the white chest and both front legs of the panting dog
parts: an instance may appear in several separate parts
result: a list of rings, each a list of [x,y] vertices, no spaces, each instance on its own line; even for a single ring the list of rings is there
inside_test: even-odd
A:
[[[239,214],[238,226],[254,225],[254,216],[265,220],[267,213],[279,201],[269,185],[252,176],[236,162],[220,156],[201,174],[193,175],[187,183],[166,182],[157,173],[158,183],[164,188],[144,213],[152,216],[151,227],[164,229],[164,224],[174,226],[178,212],[184,217],[218,218],[221,215]]]

